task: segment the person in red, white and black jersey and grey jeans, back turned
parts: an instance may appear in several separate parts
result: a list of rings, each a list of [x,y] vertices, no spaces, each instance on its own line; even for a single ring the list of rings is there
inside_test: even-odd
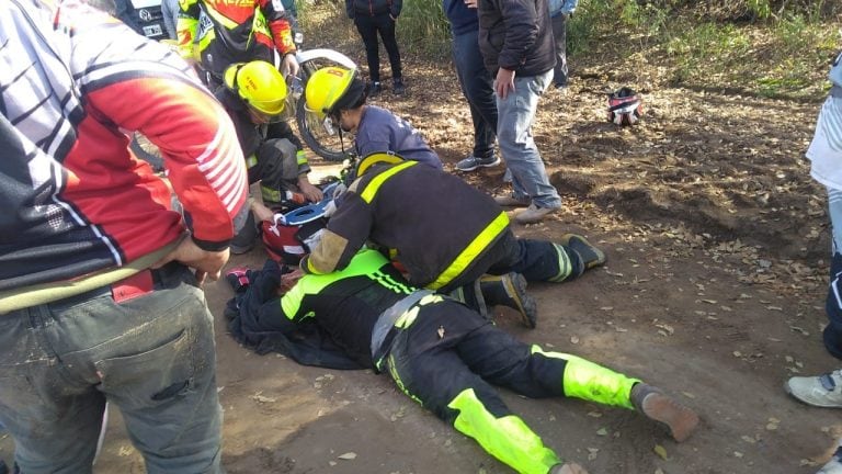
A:
[[[0,2],[0,422],[18,467],[90,473],[111,400],[149,471],[220,472],[198,281],[243,217],[230,121],[166,46],[78,1]],[[161,149],[190,235],[124,131]]]

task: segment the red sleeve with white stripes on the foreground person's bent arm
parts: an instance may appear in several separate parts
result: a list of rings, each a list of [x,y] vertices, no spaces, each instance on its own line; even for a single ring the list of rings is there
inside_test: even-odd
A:
[[[196,242],[215,249],[230,240],[248,181],[234,125],[221,105],[178,76],[111,81],[88,98],[117,126],[139,131],[160,148],[172,188],[192,217]]]

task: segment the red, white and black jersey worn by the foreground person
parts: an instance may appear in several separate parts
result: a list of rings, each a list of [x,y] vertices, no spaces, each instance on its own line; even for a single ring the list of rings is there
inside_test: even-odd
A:
[[[185,230],[127,148],[158,145],[192,238],[225,249],[244,216],[228,115],[168,47],[79,2],[0,2],[0,290],[123,267]]]

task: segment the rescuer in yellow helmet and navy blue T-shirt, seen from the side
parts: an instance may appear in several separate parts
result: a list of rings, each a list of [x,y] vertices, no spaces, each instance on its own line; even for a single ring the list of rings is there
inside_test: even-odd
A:
[[[442,160],[412,125],[386,109],[365,103],[365,84],[355,70],[317,70],[307,81],[305,97],[307,110],[321,120],[330,116],[342,132],[355,135],[356,156],[386,153],[442,169]]]

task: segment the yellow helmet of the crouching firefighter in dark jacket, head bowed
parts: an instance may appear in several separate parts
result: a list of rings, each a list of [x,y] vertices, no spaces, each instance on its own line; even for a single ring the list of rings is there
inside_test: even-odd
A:
[[[251,109],[269,117],[281,115],[286,105],[286,81],[270,63],[236,63],[225,70],[225,84],[237,91]]]

